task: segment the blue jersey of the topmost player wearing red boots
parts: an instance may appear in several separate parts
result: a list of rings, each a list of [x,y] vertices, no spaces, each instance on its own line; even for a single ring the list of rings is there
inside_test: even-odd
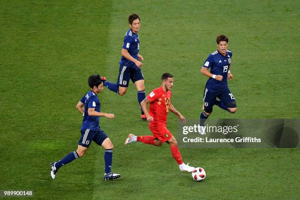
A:
[[[140,49],[140,39],[137,33],[133,33],[131,28],[126,32],[124,37],[123,49],[128,50],[128,53],[135,58],[138,59],[137,54]],[[134,62],[127,60],[124,56],[121,57],[121,65],[138,69],[138,66],[134,64]]]

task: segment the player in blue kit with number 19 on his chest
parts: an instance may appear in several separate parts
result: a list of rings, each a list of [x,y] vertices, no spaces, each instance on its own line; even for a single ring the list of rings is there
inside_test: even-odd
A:
[[[217,37],[218,50],[209,54],[201,68],[201,74],[209,77],[203,95],[204,111],[200,115],[201,134],[205,134],[204,122],[212,113],[214,105],[229,113],[235,113],[237,110],[234,96],[227,85],[227,79],[233,78],[230,73],[232,52],[227,50],[227,44],[228,38],[225,35],[219,35]]]

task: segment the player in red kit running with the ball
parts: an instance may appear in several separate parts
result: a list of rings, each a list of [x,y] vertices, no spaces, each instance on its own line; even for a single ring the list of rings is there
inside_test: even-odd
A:
[[[135,136],[129,134],[125,141],[125,145],[132,142],[142,142],[144,144],[162,146],[164,142],[169,144],[171,153],[179,165],[181,171],[192,172],[195,168],[184,164],[178,150],[177,141],[167,128],[167,116],[169,110],[173,112],[181,122],[185,123],[185,118],[175,109],[171,103],[171,89],[173,87],[173,75],[165,73],[161,77],[162,84],[159,88],[152,90],[152,92],[142,101],[141,107],[147,116],[150,130],[153,136]],[[149,112],[147,110],[147,103],[150,103]]]

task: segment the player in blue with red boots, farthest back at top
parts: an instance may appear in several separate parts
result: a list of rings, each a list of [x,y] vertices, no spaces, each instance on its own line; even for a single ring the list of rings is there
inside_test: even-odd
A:
[[[118,81],[117,83],[112,83],[106,81],[105,77],[102,78],[105,87],[122,96],[127,92],[129,80],[131,79],[137,89],[137,99],[140,104],[146,97],[144,76],[141,71],[143,63],[140,62],[143,61],[144,58],[139,54],[140,39],[138,32],[141,26],[140,17],[137,14],[132,14],[128,17],[128,23],[130,28],[127,30],[124,37]],[[147,119],[142,109],[141,119]]]

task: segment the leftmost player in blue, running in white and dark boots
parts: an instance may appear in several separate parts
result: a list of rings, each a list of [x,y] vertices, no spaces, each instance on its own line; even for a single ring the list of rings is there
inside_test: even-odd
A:
[[[87,92],[82,99],[77,103],[76,108],[81,114],[83,114],[83,123],[81,125],[81,137],[78,142],[77,150],[69,153],[66,157],[57,162],[51,163],[50,175],[54,179],[58,169],[68,164],[69,162],[83,156],[85,151],[91,145],[92,141],[102,146],[105,149],[104,161],[105,161],[105,173],[104,180],[114,180],[121,177],[121,175],[111,172],[112,153],[114,146],[111,141],[101,130],[99,126],[99,117],[105,116],[109,119],[114,119],[115,115],[110,113],[100,112],[100,101],[98,99],[98,93],[103,90],[103,82],[100,75],[91,75],[88,79],[88,84],[91,90]]]

